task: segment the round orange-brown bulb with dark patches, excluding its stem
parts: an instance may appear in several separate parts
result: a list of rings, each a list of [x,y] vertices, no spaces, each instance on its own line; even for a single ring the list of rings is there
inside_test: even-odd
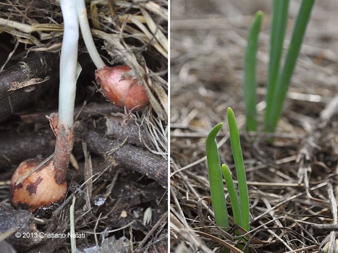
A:
[[[10,194],[12,204],[16,207],[34,212],[41,206],[49,206],[65,198],[66,181],[58,184],[55,180],[55,166],[50,161],[38,168],[24,181],[15,185],[26,173],[30,172],[44,159],[26,160],[18,166],[11,179]]]

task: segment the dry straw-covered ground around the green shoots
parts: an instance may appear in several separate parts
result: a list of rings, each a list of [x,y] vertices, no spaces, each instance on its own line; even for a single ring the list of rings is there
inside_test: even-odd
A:
[[[300,2],[290,1],[284,56]],[[264,12],[257,55],[259,130],[247,133],[243,58],[258,10]],[[240,127],[250,197],[249,252],[318,252],[330,238],[334,242],[334,228],[316,229],[316,224],[336,224],[337,217],[338,4],[314,4],[274,134],[262,131],[270,10],[271,1],[265,0],[171,2],[172,252],[222,252],[241,244],[234,223],[228,233],[215,224],[205,158],[206,135],[225,122],[217,139],[220,159],[236,180],[227,107]],[[233,217],[226,187],[225,194]]]

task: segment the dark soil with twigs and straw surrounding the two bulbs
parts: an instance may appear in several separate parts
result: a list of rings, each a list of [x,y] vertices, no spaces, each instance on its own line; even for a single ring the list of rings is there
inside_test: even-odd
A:
[[[157,12],[153,12],[155,7]],[[5,240],[1,252],[70,252],[71,225],[80,235],[75,240],[78,252],[167,251],[167,52],[163,48],[158,52],[156,39],[145,36],[130,20],[123,23],[123,17],[135,15],[149,29],[138,4],[99,3],[95,8],[99,22],[94,40],[100,55],[110,66],[133,67],[136,76],[143,71],[153,94],[151,105],[126,115],[105,99],[80,38],[82,71],[77,81],[67,196],[32,214],[13,208],[9,185],[20,162],[47,158],[54,152],[51,127],[55,125],[50,125],[46,115],[58,108],[62,16],[58,1],[0,3],[1,19],[38,27],[26,32],[0,23],[0,79],[16,85],[14,89],[8,81],[0,81],[0,241]],[[167,1],[142,8],[167,36]],[[48,29],[39,30],[39,25]],[[36,60],[39,57],[46,60]],[[29,71],[21,61],[27,62]],[[24,234],[31,239],[23,238]]]

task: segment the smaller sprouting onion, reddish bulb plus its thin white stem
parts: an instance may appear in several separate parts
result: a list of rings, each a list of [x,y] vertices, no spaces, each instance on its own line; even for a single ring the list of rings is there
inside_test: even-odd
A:
[[[128,66],[105,66],[94,44],[88,23],[85,1],[77,0],[76,3],[82,37],[88,53],[97,68],[95,78],[101,86],[103,94],[109,101],[120,108],[139,110],[147,106],[149,98],[145,88],[138,83],[137,79],[126,74],[131,71]]]

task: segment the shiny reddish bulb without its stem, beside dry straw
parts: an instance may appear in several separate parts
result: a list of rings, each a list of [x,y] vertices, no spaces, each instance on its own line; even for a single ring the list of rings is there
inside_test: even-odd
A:
[[[131,69],[122,65],[114,68],[103,67],[95,71],[95,77],[104,95],[117,107],[139,110],[147,106],[149,98],[143,85],[137,79],[123,75]]]

